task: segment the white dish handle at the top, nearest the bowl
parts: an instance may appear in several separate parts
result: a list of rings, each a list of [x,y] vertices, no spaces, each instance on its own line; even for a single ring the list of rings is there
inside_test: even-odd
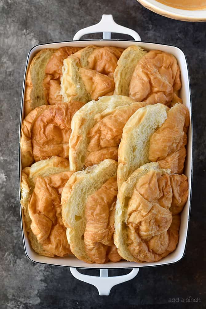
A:
[[[123,34],[128,34],[132,36],[135,41],[141,41],[141,38],[137,32],[135,32],[132,29],[126,28],[124,26],[118,25],[111,14],[103,14],[102,19],[100,20],[99,23],[83,28],[79,30],[73,40],[79,40],[83,35],[88,34],[88,33],[97,33],[97,32],[103,32],[103,39],[104,40],[110,40],[111,39],[111,32],[114,33],[123,33]]]

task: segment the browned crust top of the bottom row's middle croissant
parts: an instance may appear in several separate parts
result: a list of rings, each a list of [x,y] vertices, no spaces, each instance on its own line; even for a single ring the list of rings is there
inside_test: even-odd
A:
[[[95,263],[121,260],[113,242],[116,196],[117,181],[113,176],[86,201],[84,244],[87,255]]]

